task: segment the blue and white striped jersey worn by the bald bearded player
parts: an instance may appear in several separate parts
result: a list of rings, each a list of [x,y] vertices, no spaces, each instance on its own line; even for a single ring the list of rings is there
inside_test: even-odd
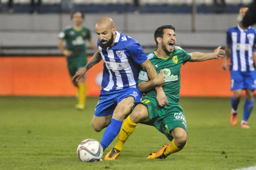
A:
[[[104,49],[98,40],[98,48],[104,60],[101,87],[105,91],[135,88],[140,65],[147,60],[140,43],[116,31],[115,43]]]

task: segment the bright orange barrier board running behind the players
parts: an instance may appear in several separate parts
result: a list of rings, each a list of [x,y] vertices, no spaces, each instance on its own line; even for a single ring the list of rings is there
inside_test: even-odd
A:
[[[180,96],[230,97],[230,75],[221,69],[221,62],[211,60],[182,65]],[[88,96],[99,95],[97,76],[102,69],[100,61],[88,71]],[[65,57],[1,57],[0,95],[74,96],[76,88],[70,81]]]

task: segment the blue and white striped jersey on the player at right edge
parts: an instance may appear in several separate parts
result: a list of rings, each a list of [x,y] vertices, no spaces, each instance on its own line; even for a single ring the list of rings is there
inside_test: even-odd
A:
[[[230,70],[250,72],[255,70],[252,52],[256,42],[256,31],[252,27],[243,30],[238,25],[227,31],[227,43],[230,44]]]

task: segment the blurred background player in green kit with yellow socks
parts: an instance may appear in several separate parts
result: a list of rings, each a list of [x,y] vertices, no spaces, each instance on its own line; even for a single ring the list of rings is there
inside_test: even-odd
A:
[[[67,27],[59,35],[58,47],[63,51],[67,58],[68,72],[71,77],[75,75],[77,70],[83,68],[87,63],[85,40],[87,40],[93,49],[98,50],[97,45],[91,40],[90,30],[83,27],[84,15],[81,12],[72,12],[71,19],[72,27]],[[66,42],[66,47],[63,46],[63,40]],[[80,79],[77,84],[77,97],[79,98],[77,109],[84,109],[86,99],[86,84],[85,77]]]

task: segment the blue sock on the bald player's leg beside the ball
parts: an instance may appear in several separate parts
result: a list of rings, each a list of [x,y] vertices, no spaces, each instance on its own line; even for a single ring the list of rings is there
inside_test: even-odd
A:
[[[120,128],[122,127],[122,123],[123,121],[111,118],[111,123],[106,128],[100,141],[103,150],[105,150],[109,146],[109,144],[111,144],[111,142],[115,139],[116,135],[118,135]]]

